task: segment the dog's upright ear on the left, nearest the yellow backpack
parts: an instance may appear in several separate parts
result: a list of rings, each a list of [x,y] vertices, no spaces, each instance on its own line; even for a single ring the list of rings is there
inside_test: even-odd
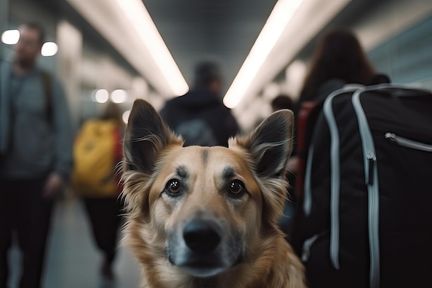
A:
[[[169,145],[183,145],[153,106],[142,99],[133,103],[124,138],[124,170],[151,175],[159,153]]]

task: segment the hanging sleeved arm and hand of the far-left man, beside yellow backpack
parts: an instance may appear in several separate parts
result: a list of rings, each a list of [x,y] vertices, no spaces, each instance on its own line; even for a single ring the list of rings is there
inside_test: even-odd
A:
[[[72,171],[72,126],[66,95],[59,81],[52,83],[52,125],[55,131],[55,165],[46,183],[46,195],[53,195],[68,181]]]

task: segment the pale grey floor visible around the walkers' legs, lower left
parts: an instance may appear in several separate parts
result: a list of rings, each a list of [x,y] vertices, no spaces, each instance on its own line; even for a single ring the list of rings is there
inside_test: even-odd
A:
[[[11,288],[17,287],[19,251],[12,249]],[[139,265],[124,247],[115,261],[115,280],[99,276],[101,255],[95,248],[84,209],[75,199],[60,200],[52,223],[44,288],[137,288]]]

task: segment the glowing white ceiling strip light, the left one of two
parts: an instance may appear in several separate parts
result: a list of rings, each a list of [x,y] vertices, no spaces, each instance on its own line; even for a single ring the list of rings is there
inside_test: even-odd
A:
[[[148,48],[150,55],[155,59],[173,93],[179,96],[188,92],[188,84],[175,64],[173,56],[166,47],[164,39],[159,34],[144,3],[141,0],[117,0],[117,4],[131,22],[131,27],[135,28],[141,37],[141,41]]]

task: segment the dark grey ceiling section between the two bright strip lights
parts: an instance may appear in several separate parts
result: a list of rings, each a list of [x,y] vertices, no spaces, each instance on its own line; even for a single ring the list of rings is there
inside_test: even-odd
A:
[[[276,2],[144,0],[144,5],[189,86],[195,63],[214,59],[221,66],[226,90]]]

